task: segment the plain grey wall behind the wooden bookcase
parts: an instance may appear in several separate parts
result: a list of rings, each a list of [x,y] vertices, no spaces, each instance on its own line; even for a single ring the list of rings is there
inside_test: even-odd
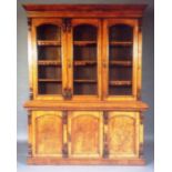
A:
[[[153,0],[18,0],[18,141],[27,140],[27,111],[22,108],[29,99],[27,16],[22,3],[146,3],[143,17],[143,75],[142,100],[150,109],[145,112],[145,140],[154,135],[154,2]]]

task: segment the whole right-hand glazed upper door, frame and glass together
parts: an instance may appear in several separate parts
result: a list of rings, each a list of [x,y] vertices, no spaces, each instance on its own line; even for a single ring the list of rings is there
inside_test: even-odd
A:
[[[136,99],[138,45],[138,20],[104,20],[102,73],[105,100]]]

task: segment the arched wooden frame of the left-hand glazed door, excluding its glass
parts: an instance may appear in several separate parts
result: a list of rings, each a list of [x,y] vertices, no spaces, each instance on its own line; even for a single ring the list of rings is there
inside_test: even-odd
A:
[[[33,88],[33,99],[36,100],[63,100],[62,95],[58,95],[58,94],[39,94],[38,93],[38,51],[37,51],[37,27],[41,26],[41,24],[54,24],[59,28],[61,28],[61,71],[62,71],[62,91],[63,89],[67,87],[67,62],[65,62],[65,43],[67,43],[67,36],[63,32],[62,29],[62,19],[52,19],[50,18],[49,20],[47,18],[41,18],[41,19],[32,19],[32,24],[31,24],[31,34],[30,34],[30,39],[31,40],[31,49],[32,49],[32,53],[29,53],[29,63],[30,67],[32,69],[32,71],[30,71],[30,74],[32,75],[32,82],[30,82],[30,84],[32,84]]]

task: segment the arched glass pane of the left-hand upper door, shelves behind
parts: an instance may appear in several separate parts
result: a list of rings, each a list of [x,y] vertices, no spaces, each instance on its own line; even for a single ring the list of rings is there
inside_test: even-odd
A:
[[[62,93],[61,33],[53,24],[37,28],[38,93]]]

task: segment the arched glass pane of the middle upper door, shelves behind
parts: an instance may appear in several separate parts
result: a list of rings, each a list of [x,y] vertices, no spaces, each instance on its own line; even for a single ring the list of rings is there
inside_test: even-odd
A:
[[[97,28],[82,24],[73,30],[73,92],[98,94]]]

